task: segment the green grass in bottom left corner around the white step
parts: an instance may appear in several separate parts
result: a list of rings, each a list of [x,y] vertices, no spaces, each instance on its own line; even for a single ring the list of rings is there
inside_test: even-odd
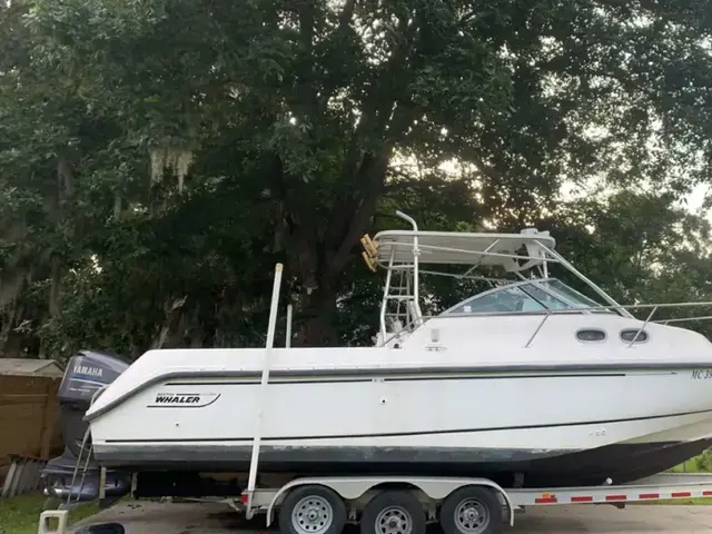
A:
[[[37,534],[46,496],[39,493],[0,498],[0,534]],[[69,523],[76,523],[98,512],[96,502],[69,512]]]

